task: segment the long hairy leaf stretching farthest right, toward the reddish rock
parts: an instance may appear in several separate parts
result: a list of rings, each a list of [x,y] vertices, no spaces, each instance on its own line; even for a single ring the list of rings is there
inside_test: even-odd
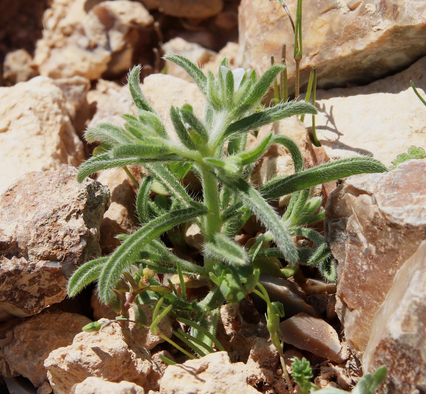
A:
[[[296,174],[276,177],[265,184],[259,191],[265,200],[275,200],[285,194],[309,188],[320,183],[348,177],[355,174],[372,174],[388,169],[380,161],[371,157],[351,157],[320,166],[308,168]]]

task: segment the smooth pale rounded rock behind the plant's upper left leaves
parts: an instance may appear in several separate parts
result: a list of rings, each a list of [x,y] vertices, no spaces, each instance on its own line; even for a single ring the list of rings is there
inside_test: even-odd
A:
[[[172,140],[178,141],[178,136],[170,120],[171,106],[190,104],[194,108],[194,114],[203,118],[205,99],[193,83],[172,75],[151,74],[144,79],[142,92],[160,115]]]

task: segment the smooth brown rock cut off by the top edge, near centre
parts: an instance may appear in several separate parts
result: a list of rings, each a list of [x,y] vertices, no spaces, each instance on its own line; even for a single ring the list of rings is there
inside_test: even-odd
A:
[[[209,18],[219,14],[223,0],[157,0],[161,11],[172,17]]]

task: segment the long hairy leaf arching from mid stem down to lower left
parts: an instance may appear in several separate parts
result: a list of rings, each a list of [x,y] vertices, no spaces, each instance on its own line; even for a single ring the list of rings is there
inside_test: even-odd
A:
[[[104,303],[109,303],[112,289],[115,286],[121,272],[135,260],[141,249],[164,231],[187,222],[194,217],[207,213],[207,208],[183,208],[173,212],[168,212],[160,217],[151,220],[138,231],[133,233],[121,244],[111,255],[108,262],[102,269],[99,278],[99,297]]]

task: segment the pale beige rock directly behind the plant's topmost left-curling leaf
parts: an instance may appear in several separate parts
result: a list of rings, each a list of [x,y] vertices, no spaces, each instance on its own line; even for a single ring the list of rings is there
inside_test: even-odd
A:
[[[207,63],[215,52],[210,49],[203,48],[197,43],[189,43],[181,37],[172,38],[162,47],[164,54],[179,54],[187,57],[197,66],[202,67]],[[166,61],[167,74],[192,82],[187,72],[176,66],[176,64]]]

